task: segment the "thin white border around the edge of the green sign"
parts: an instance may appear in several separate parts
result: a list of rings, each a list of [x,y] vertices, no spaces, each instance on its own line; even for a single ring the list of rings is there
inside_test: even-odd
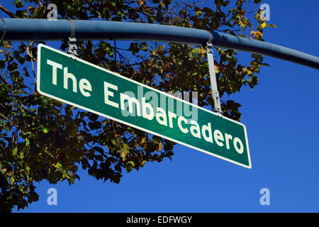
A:
[[[176,100],[178,100],[178,101],[183,101],[183,102],[186,103],[186,104],[189,104],[189,105],[194,106],[194,107],[196,107],[196,108],[198,108],[198,109],[201,109],[201,110],[203,110],[203,111],[206,111],[206,112],[208,112],[208,113],[210,113],[210,114],[214,114],[214,115],[216,115],[216,116],[218,116],[218,117],[220,117],[220,118],[225,118],[225,119],[228,120],[228,121],[232,121],[233,123],[237,123],[237,124],[239,124],[240,126],[243,126],[243,127],[244,127],[244,132],[245,132],[245,142],[246,142],[246,147],[247,147],[247,157],[248,157],[249,165],[244,165],[244,164],[242,164],[242,163],[240,163],[240,162],[236,162],[236,161],[230,160],[230,159],[228,159],[228,158],[226,158],[226,157],[223,157],[223,156],[220,156],[220,155],[216,155],[216,154],[214,154],[214,153],[210,153],[210,152],[208,152],[208,151],[206,151],[206,150],[202,150],[201,148],[196,148],[196,147],[194,147],[194,146],[192,146],[192,145],[189,145],[189,144],[180,142],[180,141],[178,141],[178,140],[174,140],[173,138],[169,138],[169,137],[167,137],[167,136],[160,135],[160,134],[155,133],[155,132],[153,132],[153,131],[149,131],[149,130],[147,130],[147,129],[145,129],[145,128],[140,128],[140,127],[135,126],[135,125],[133,125],[133,124],[131,124],[131,123],[128,123],[128,122],[125,122],[125,121],[121,121],[121,120],[119,120],[119,119],[117,119],[117,118],[108,116],[108,115],[106,115],[106,114],[99,113],[99,112],[97,112],[97,111],[91,110],[91,109],[86,108],[86,107],[84,107],[84,106],[80,106],[80,105],[74,104],[74,103],[72,103],[72,102],[70,102],[70,101],[67,101],[67,100],[64,100],[64,99],[60,99],[60,98],[58,98],[58,97],[56,97],[56,96],[52,96],[52,95],[50,95],[50,94],[46,94],[45,92],[42,92],[42,91],[40,90],[40,60],[41,60],[41,48],[47,48],[47,49],[52,50],[52,51],[54,51],[54,52],[57,52],[57,53],[59,53],[59,54],[61,54],[61,55],[65,55],[65,56],[67,56],[67,57],[69,57],[69,58],[72,58],[72,59],[74,59],[74,60],[77,60],[77,61],[79,61],[79,62],[82,62],[82,63],[84,63],[84,64],[86,64],[86,65],[90,65],[91,67],[96,67],[96,68],[99,69],[99,70],[108,72],[108,73],[113,74],[113,75],[115,75],[115,76],[117,76],[117,77],[121,77],[122,79],[126,79],[126,80],[128,80],[128,81],[130,81],[130,82],[133,82],[133,83],[135,83],[135,84],[138,84],[138,85],[140,85],[140,86],[142,86],[142,87],[145,87],[145,88],[147,88],[147,89],[152,89],[153,91],[159,92],[160,94],[164,94],[165,96],[169,96],[169,97],[171,97],[172,99],[176,99]],[[124,123],[125,125],[131,126],[131,127],[133,127],[133,128],[138,128],[138,129],[140,129],[141,131],[145,131],[145,132],[147,132],[147,133],[151,133],[151,134],[157,135],[157,136],[162,137],[162,138],[165,138],[165,139],[167,139],[167,140],[171,140],[171,141],[173,141],[174,143],[179,143],[179,144],[184,145],[184,146],[186,146],[186,147],[193,148],[194,150],[201,151],[201,152],[203,152],[203,153],[206,153],[206,154],[208,154],[208,155],[212,155],[212,156],[214,156],[214,157],[218,157],[218,158],[220,158],[220,159],[222,159],[222,160],[225,160],[225,161],[228,161],[228,162],[232,162],[232,163],[234,163],[234,164],[236,164],[236,165],[240,165],[240,166],[245,167],[245,168],[247,168],[247,169],[251,169],[251,168],[252,168],[252,163],[251,163],[251,160],[250,160],[250,148],[249,148],[248,139],[247,139],[247,131],[246,131],[246,126],[245,126],[244,124],[242,124],[242,123],[240,123],[240,122],[237,122],[237,121],[234,121],[233,119],[227,118],[227,117],[225,117],[225,116],[220,116],[220,115],[214,113],[213,111],[208,111],[207,109],[204,109],[204,108],[201,107],[201,106],[196,106],[195,104],[189,103],[188,101],[185,101],[185,100],[183,100],[183,99],[177,99],[177,97],[175,97],[175,96],[173,96],[173,95],[171,95],[171,94],[167,94],[167,93],[165,93],[165,92],[159,91],[159,90],[157,90],[157,89],[155,89],[155,88],[153,88],[153,87],[148,87],[147,85],[142,84],[142,83],[140,83],[140,82],[137,82],[137,81],[135,81],[135,80],[133,80],[133,79],[129,79],[129,78],[127,78],[127,77],[123,77],[121,74],[118,74],[118,73],[116,73],[116,72],[111,72],[111,71],[106,70],[106,69],[104,69],[104,68],[102,68],[102,67],[99,67],[99,66],[97,66],[97,65],[93,65],[93,64],[91,64],[90,62],[86,62],[86,61],[84,61],[84,60],[82,60],[82,59],[80,59],[80,58],[78,58],[78,57],[74,57],[74,56],[72,56],[72,55],[68,55],[67,53],[62,52],[62,51],[60,51],[60,50],[56,50],[56,49],[54,49],[54,48],[50,48],[49,46],[44,45],[44,44],[42,44],[42,43],[38,44],[37,90],[38,90],[38,92],[39,92],[40,94],[43,94],[44,96],[48,96],[48,97],[50,97],[51,99],[56,99],[56,100],[58,100],[58,101],[62,101],[62,102],[64,102],[64,103],[69,104],[69,105],[72,105],[72,106],[76,106],[76,107],[78,107],[78,108],[80,108],[80,109],[84,109],[84,110],[86,110],[86,111],[89,111],[89,112],[91,112],[91,113],[97,114],[97,115],[99,115],[99,116],[103,116],[103,117],[106,117],[106,118],[110,118],[110,119],[112,119],[112,120],[114,120],[114,121],[118,121],[118,122],[120,122],[120,123]]]

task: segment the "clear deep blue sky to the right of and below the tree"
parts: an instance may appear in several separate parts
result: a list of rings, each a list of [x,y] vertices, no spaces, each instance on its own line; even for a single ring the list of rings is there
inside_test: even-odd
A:
[[[267,42],[319,56],[319,1],[264,3],[268,23],[278,26],[265,30]],[[318,212],[318,70],[264,61],[270,67],[258,74],[259,85],[233,96],[242,104],[251,170],[177,145],[172,162],[148,163],[124,174],[120,184],[96,181],[83,170],[71,187],[35,184],[40,200],[19,212]],[[50,187],[57,189],[57,206],[47,205]],[[269,206],[259,204],[262,188],[270,190]]]

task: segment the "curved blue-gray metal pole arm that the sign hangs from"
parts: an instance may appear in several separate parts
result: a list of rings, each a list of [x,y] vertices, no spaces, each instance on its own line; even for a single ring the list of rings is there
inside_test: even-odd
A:
[[[152,40],[203,46],[211,40],[216,47],[268,55],[319,70],[319,57],[235,35],[148,23],[81,20],[72,22],[77,40]],[[68,40],[71,33],[72,26],[68,20],[4,18],[0,21],[0,38],[3,37],[3,40]]]

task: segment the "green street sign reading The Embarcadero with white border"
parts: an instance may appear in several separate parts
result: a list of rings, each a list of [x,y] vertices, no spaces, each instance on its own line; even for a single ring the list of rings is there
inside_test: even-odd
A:
[[[42,44],[38,45],[37,90],[208,155],[252,167],[242,123]]]

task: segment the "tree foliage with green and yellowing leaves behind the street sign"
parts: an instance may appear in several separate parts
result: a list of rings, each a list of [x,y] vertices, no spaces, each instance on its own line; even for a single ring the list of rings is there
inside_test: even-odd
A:
[[[254,1],[255,4],[260,1]],[[13,1],[16,18],[47,18],[51,1]],[[250,1],[215,0],[211,7],[172,0],[57,0],[58,19],[134,21],[220,31],[262,40],[259,6],[247,12]],[[0,6],[2,6],[0,4]],[[250,6],[251,7],[251,6]],[[255,26],[252,25],[255,24]],[[1,43],[0,49],[0,210],[24,209],[38,200],[34,182],[74,184],[78,167],[96,179],[118,183],[125,169],[139,170],[146,162],[171,159],[174,143],[62,104],[35,91],[37,42]],[[213,106],[206,50],[186,44],[131,42],[128,48],[116,41],[78,41],[82,59],[119,72],[165,92],[196,91],[198,105]],[[66,50],[67,43],[61,43]],[[261,55],[241,65],[237,52],[217,48],[216,76],[223,96],[225,116],[240,120],[240,104],[229,99],[243,85],[251,89]],[[216,52],[216,53],[217,53]],[[33,80],[34,77],[34,80]]]

